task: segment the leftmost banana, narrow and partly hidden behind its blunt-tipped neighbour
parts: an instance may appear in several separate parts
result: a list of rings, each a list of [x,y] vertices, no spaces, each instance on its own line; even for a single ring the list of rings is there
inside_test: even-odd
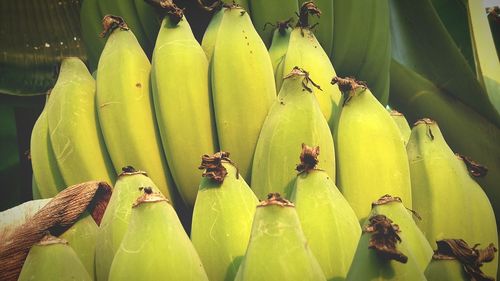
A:
[[[47,96],[47,100],[48,100]],[[47,105],[47,102],[45,103]],[[54,197],[66,187],[57,167],[56,156],[49,138],[47,106],[35,122],[31,131],[30,156],[33,178],[37,183],[41,198]]]

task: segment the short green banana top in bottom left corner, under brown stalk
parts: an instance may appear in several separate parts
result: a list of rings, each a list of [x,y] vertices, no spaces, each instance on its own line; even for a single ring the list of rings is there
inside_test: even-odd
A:
[[[67,244],[63,239],[45,236],[31,247],[18,280],[91,281],[82,262]]]

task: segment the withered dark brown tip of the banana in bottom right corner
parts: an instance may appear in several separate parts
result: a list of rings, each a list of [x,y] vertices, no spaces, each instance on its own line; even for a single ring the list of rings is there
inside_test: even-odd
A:
[[[470,247],[462,239],[444,239],[436,241],[437,250],[432,256],[435,260],[458,260],[470,280],[494,281],[495,278],[486,276],[481,271],[485,262],[491,262],[495,258],[497,248],[493,244],[485,249],[477,249],[479,244]]]

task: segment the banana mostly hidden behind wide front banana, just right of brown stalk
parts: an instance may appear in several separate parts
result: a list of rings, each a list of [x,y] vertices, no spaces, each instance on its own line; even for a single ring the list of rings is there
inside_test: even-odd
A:
[[[113,257],[129,225],[130,206],[141,195],[143,187],[158,190],[145,172],[137,171],[133,167],[124,167],[118,176],[97,233],[95,265],[98,281],[108,280]]]

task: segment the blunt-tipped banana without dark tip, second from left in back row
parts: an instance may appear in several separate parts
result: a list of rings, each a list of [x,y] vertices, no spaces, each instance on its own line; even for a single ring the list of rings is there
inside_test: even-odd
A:
[[[66,185],[90,180],[113,184],[115,172],[102,140],[95,81],[79,58],[65,58],[47,102],[49,136]]]

